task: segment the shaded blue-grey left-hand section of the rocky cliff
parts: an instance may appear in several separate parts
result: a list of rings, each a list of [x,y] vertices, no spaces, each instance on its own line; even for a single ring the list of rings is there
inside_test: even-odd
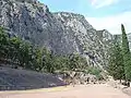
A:
[[[62,39],[62,25],[47,5],[35,0],[1,0],[0,25],[5,26],[11,34],[35,45],[47,46],[56,52],[61,53],[67,45]]]

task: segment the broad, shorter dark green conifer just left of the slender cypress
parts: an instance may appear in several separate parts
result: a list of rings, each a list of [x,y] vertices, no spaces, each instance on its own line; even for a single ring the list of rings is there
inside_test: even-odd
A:
[[[115,79],[121,81],[124,78],[123,57],[117,36],[115,36],[114,45],[111,47],[108,72]]]

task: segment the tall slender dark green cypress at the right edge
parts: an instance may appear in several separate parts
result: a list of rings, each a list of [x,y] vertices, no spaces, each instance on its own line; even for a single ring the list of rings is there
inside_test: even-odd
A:
[[[131,59],[130,59],[131,57],[130,57],[129,42],[123,24],[121,24],[121,32],[122,32],[122,54],[123,54],[124,74],[126,74],[126,81],[128,81],[129,83],[131,81]]]

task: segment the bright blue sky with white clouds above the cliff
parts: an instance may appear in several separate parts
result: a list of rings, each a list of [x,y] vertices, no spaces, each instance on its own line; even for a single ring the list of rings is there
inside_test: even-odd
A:
[[[73,12],[85,16],[97,30],[121,34],[124,24],[131,33],[131,0],[39,0],[50,12]]]

